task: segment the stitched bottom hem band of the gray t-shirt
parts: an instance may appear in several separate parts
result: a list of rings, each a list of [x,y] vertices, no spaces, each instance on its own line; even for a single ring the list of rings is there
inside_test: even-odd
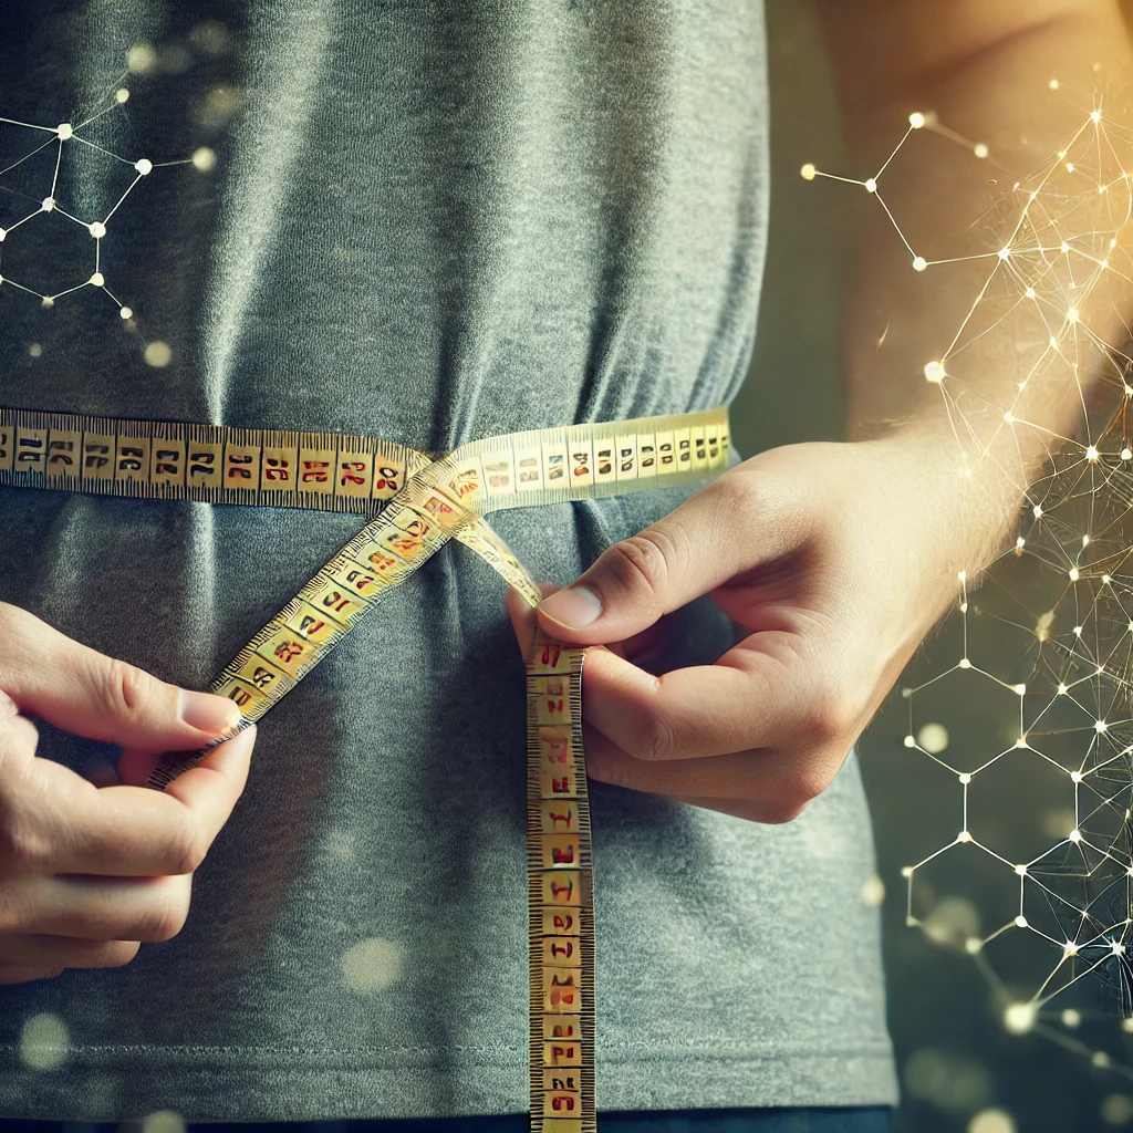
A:
[[[647,1043],[642,1045],[648,1047]],[[424,1048],[400,1065],[333,1064],[325,1051],[244,1048],[85,1048],[51,1070],[14,1065],[0,1048],[0,1117],[32,1121],[140,1121],[172,1110],[186,1122],[314,1122],[470,1117],[527,1111],[526,1062],[468,1057],[438,1063]],[[174,1054],[176,1051],[176,1054]],[[228,1058],[225,1059],[225,1054]],[[888,1047],[877,1050],[739,1051],[721,1047],[650,1051],[627,1047],[598,1057],[598,1111],[778,1106],[893,1106],[897,1083]]]

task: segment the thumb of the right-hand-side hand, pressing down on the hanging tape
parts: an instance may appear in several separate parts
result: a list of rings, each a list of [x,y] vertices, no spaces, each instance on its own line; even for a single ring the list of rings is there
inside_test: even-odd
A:
[[[740,469],[725,472],[608,547],[576,582],[539,604],[543,628],[572,645],[623,641],[798,545],[798,522],[782,521],[782,504],[758,508],[750,478]]]

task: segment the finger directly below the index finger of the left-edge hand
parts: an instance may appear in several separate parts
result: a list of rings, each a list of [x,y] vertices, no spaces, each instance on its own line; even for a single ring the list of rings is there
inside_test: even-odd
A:
[[[161,943],[185,927],[193,877],[66,875],[8,888],[6,904],[19,910],[18,935]],[[0,939],[5,935],[0,927]]]

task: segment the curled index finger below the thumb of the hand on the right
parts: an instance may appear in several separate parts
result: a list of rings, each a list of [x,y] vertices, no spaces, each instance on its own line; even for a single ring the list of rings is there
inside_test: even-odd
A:
[[[841,724],[820,679],[802,639],[785,631],[755,633],[714,665],[661,676],[595,649],[582,670],[582,717],[638,759],[813,747]]]

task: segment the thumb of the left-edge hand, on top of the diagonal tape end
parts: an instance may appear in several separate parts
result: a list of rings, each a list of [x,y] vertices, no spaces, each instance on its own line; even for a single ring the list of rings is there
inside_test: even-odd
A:
[[[90,740],[150,751],[204,747],[240,718],[224,697],[169,684],[2,603],[0,689],[25,715]]]

